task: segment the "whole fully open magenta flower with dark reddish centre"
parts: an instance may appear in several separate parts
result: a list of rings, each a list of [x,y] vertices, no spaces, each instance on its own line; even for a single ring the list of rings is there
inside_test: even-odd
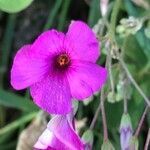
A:
[[[17,52],[11,84],[17,90],[30,87],[34,102],[48,113],[66,114],[71,98],[83,100],[105,83],[106,69],[95,64],[99,55],[92,30],[73,21],[66,35],[46,31]]]

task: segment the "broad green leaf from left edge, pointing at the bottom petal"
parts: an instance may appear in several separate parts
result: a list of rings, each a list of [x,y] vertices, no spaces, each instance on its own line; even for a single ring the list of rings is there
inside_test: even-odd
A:
[[[2,89],[0,89],[0,104],[7,107],[18,108],[23,111],[38,110],[31,100]]]

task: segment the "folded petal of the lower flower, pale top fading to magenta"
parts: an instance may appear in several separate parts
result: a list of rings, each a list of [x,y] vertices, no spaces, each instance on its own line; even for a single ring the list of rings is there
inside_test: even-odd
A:
[[[54,117],[48,124],[48,128],[53,131],[56,138],[66,146],[67,149],[65,150],[83,150],[84,145],[73,130],[73,127],[70,126],[66,116]]]

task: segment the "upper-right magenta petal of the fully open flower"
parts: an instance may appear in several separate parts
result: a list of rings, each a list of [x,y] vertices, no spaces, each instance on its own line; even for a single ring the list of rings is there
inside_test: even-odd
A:
[[[85,23],[72,21],[66,35],[66,47],[71,47],[73,53],[79,60],[96,62],[99,57],[99,44],[95,34]],[[70,44],[69,44],[70,43]],[[68,46],[67,46],[68,45]]]

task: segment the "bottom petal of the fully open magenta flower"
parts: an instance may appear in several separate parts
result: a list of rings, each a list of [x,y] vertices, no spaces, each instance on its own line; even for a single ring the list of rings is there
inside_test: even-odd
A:
[[[65,78],[48,76],[31,86],[34,102],[51,114],[66,114],[71,111],[71,94]]]

